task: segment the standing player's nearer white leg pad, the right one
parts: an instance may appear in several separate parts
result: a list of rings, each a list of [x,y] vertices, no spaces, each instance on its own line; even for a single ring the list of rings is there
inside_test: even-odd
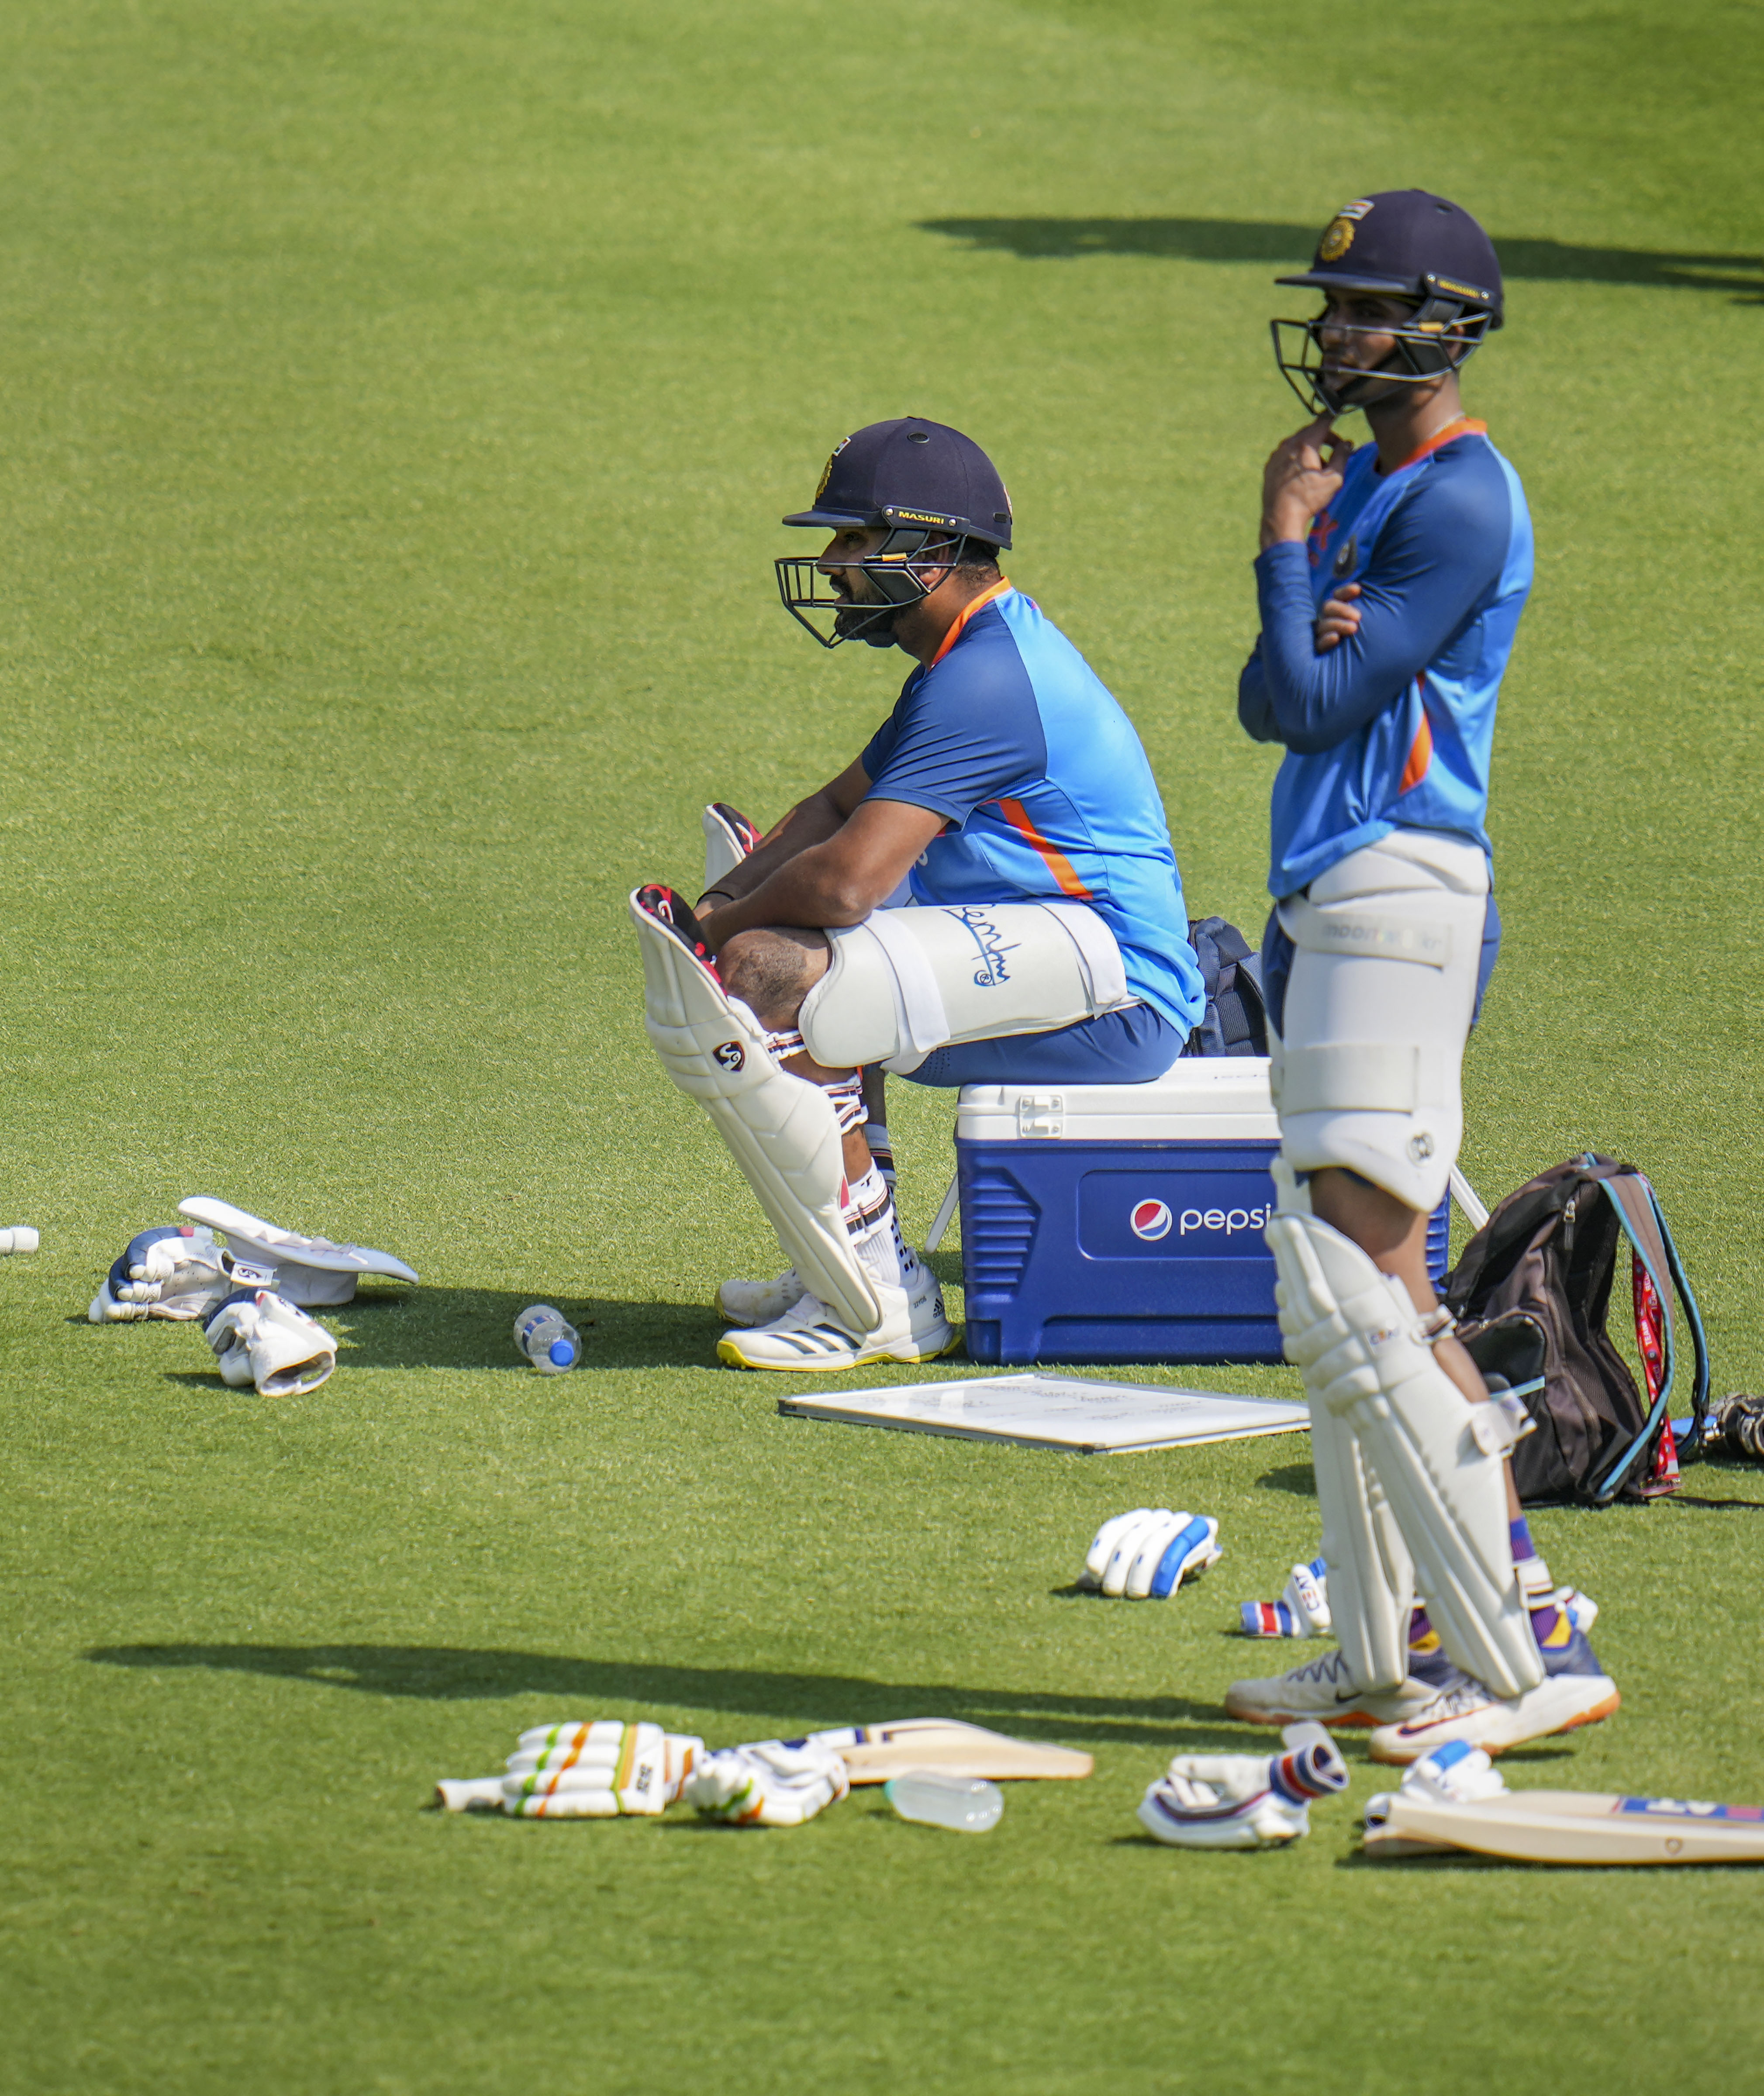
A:
[[[1275,1214],[1267,1243],[1279,1270],[1286,1354],[1305,1377],[1311,1415],[1353,1429],[1447,1654],[1496,1696],[1537,1687],[1544,1662],[1506,1526],[1510,1415],[1470,1404],[1433,1358],[1403,1283],[1378,1272],[1340,1230],[1315,1216]],[[1334,1425],[1324,1442],[1332,1436]],[[1321,1478],[1319,1467],[1319,1492]],[[1351,1549],[1353,1532],[1330,1541]]]

